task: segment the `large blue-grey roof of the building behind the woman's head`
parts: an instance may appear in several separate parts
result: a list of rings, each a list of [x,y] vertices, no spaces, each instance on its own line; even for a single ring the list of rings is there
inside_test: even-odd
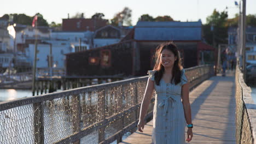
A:
[[[199,22],[137,22],[135,40],[201,40]]]

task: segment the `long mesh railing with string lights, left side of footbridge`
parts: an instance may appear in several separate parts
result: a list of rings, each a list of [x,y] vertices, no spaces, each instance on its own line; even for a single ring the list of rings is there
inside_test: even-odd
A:
[[[212,65],[186,69],[190,89]],[[0,143],[110,143],[135,131],[148,76],[0,103]],[[146,119],[153,117],[154,98]]]

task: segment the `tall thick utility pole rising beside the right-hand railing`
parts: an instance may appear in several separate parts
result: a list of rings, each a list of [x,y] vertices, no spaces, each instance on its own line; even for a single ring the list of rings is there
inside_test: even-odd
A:
[[[242,56],[243,56],[243,79],[246,81],[246,0],[243,0],[243,19],[242,19]]]

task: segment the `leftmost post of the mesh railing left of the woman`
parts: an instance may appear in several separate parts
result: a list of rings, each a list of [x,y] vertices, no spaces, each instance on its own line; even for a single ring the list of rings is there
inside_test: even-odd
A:
[[[42,103],[33,104],[34,110],[34,143],[44,143],[44,111]]]

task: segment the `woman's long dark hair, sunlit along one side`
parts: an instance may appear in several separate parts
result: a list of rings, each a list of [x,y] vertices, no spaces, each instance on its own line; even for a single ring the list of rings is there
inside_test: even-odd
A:
[[[181,57],[179,56],[179,51],[177,49],[177,46],[171,41],[164,44],[160,44],[158,47],[156,47],[155,52],[155,67],[153,70],[156,70],[155,72],[155,82],[156,85],[159,86],[160,80],[162,79],[162,75],[164,75],[165,68],[161,64],[161,52],[162,50],[169,50],[173,52],[174,56],[177,57],[176,61],[174,61],[173,68],[172,68],[172,79],[171,83],[174,83],[177,85],[179,82],[181,82],[181,74],[182,74],[182,65],[181,65]]]

